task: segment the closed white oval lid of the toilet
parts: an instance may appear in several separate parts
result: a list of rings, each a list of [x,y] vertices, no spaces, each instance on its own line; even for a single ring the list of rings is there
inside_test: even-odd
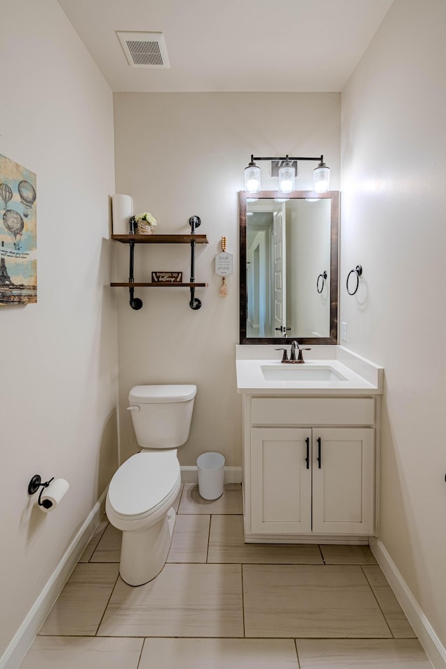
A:
[[[119,516],[147,514],[167,498],[179,477],[176,449],[132,455],[110,482],[109,503]]]

